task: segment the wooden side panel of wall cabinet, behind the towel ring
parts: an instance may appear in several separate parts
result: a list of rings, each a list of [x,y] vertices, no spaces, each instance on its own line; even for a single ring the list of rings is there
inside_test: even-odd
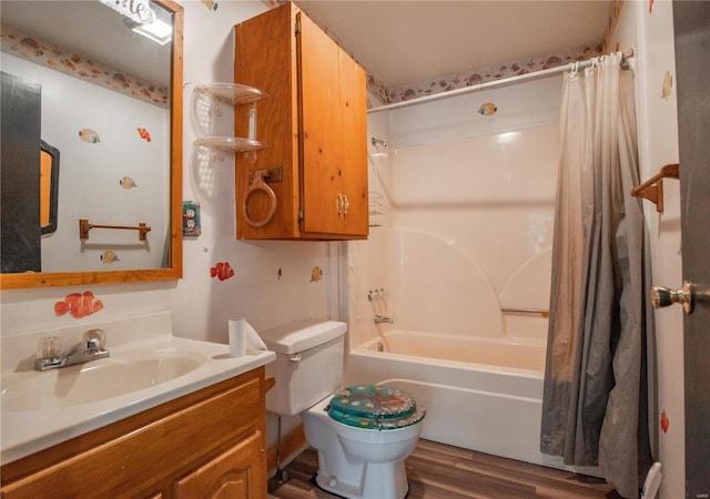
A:
[[[264,90],[268,98],[256,103],[256,138],[267,144],[256,161],[235,154],[236,236],[237,238],[293,238],[298,223],[298,109],[295,7],[284,3],[236,24],[234,81]],[[237,136],[248,134],[247,106],[234,113]],[[277,198],[273,220],[254,227],[243,216],[244,198],[251,189],[250,174],[257,170],[282,169],[281,182],[268,181]],[[247,210],[254,221],[264,220],[271,200],[263,191],[248,197]]]

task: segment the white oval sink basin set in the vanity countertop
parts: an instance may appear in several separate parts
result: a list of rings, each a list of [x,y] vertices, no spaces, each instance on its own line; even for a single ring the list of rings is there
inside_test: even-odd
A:
[[[2,410],[63,409],[105,400],[179,378],[206,360],[200,354],[153,352],[44,373],[23,373],[2,379]]]

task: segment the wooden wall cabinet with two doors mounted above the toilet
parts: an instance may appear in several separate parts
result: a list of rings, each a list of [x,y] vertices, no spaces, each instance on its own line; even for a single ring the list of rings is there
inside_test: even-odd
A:
[[[236,154],[237,238],[358,240],[368,234],[365,71],[293,3],[235,27],[234,81],[260,88],[256,136],[266,147]],[[235,110],[235,133],[248,133],[248,108]],[[276,197],[273,218],[255,171]],[[244,202],[246,198],[246,203]]]

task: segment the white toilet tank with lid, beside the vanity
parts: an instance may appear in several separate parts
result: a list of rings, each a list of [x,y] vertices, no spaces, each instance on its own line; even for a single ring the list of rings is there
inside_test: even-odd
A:
[[[266,376],[276,380],[266,393],[266,410],[294,416],[339,389],[347,324],[306,319],[260,334],[276,360]]]

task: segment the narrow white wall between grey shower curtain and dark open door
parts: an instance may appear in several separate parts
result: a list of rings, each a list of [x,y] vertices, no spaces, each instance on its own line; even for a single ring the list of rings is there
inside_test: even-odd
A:
[[[663,96],[666,73],[676,81],[672,2],[627,1],[622,8],[615,41],[622,49],[633,48],[639,160],[646,180],[668,163],[678,162],[678,109],[674,85]],[[645,201],[649,228],[653,283],[679,288],[682,285],[680,256],[680,194],[676,180],[663,181],[665,211]],[[649,415],[651,429],[659,439],[657,460],[662,464],[663,480],[659,497],[684,497],[684,399],[682,308],[656,310],[658,360],[658,400]],[[668,418],[667,430],[661,415]]]

